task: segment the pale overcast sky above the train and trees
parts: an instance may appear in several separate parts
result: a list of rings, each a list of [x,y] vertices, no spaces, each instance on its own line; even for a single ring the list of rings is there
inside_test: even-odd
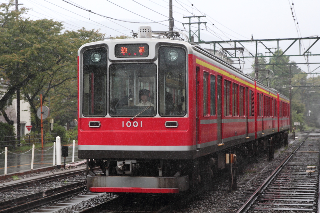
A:
[[[7,2],[8,0],[0,0],[0,3]],[[138,31],[140,25],[149,25],[153,31],[169,29],[169,0],[19,0],[19,4],[22,4],[19,8],[28,8],[24,17],[60,21],[63,22],[65,30],[78,30],[83,27],[87,30],[100,29],[106,38],[110,35],[131,36],[130,33]],[[206,25],[200,25],[200,38],[204,41],[250,40],[252,37],[320,37],[319,0],[172,0],[172,4],[174,30],[183,31],[187,35],[189,27],[183,26],[182,23],[189,22],[189,19],[183,17],[206,16],[200,18],[201,22],[207,22]],[[198,22],[198,19],[192,18],[191,22]],[[197,24],[192,25],[191,30],[195,31],[197,27]],[[297,55],[299,51],[307,50],[315,41],[303,40],[300,48],[296,42],[286,54]],[[279,46],[285,50],[292,42],[279,42]],[[226,44],[224,47],[233,47],[232,45]],[[265,45],[275,48],[277,43],[265,42]],[[201,46],[213,49],[213,45],[210,44]],[[245,43],[244,47],[255,54],[254,43]],[[320,54],[320,41],[309,51],[312,54]],[[259,44],[258,53],[265,55],[265,52],[267,49]],[[249,53],[245,51],[244,56],[249,56]],[[296,63],[319,63],[298,66],[304,72],[320,73],[320,68],[317,68],[320,66],[320,56],[292,56],[290,60]],[[244,61],[244,73],[252,72],[254,59],[247,58]]]

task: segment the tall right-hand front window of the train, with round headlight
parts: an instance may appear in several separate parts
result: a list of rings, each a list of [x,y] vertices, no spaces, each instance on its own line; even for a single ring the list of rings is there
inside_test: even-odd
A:
[[[176,57],[170,57],[170,56]],[[159,48],[159,114],[185,116],[187,113],[186,51],[180,47]]]

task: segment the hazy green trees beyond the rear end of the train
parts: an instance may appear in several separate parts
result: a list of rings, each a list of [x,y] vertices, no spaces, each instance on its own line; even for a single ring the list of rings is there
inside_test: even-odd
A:
[[[282,50],[279,50],[279,55],[282,52]],[[285,55],[283,57],[270,57],[269,62],[265,58],[259,58],[258,64],[258,69],[261,70],[258,74],[259,81],[266,85],[269,83],[270,87],[275,88],[288,98],[291,91],[292,124],[293,122],[300,122],[301,130],[305,129],[307,125],[319,128],[320,92],[316,88],[320,84],[320,77],[307,78],[307,74],[302,72],[295,62],[290,61],[289,57]],[[255,64],[252,67],[255,67]],[[267,70],[272,70],[274,75],[270,76]],[[250,75],[254,77],[254,72]],[[313,88],[312,86],[316,87]],[[312,113],[310,116],[306,116],[309,110]]]

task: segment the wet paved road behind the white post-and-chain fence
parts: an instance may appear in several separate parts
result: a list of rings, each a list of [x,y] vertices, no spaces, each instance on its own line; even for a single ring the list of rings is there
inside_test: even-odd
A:
[[[69,144],[68,146],[70,146]],[[45,166],[53,166],[53,147],[44,147],[44,150],[39,151],[35,149],[33,168],[40,168]],[[40,148],[41,149],[41,148]],[[48,150],[49,149],[49,150]],[[32,151],[26,154],[12,154],[8,152],[7,174],[20,172],[31,169],[31,155]],[[78,159],[78,146],[75,146],[75,162],[83,159]],[[72,162],[72,146],[69,147],[68,157],[66,163]],[[57,160],[56,160],[57,163]],[[64,164],[64,157],[61,157],[61,165]],[[4,153],[0,154],[0,175],[4,174]]]

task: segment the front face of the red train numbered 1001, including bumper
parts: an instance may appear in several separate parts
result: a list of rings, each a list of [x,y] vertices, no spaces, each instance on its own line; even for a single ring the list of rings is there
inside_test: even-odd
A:
[[[90,159],[90,191],[188,190],[196,152],[188,45],[146,33],[79,49],[78,157]]]

